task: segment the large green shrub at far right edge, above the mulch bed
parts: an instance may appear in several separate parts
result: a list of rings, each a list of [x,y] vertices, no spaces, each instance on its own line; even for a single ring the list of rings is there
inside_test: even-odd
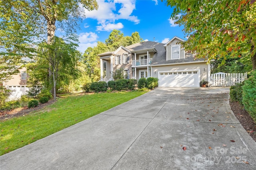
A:
[[[254,121],[256,121],[256,70],[252,72],[252,76],[248,80],[244,81],[242,89],[242,103],[244,108],[252,116]]]

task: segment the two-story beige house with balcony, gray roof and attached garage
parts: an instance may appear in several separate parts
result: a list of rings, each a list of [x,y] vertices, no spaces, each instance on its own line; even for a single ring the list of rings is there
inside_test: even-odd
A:
[[[194,55],[178,44],[181,41],[185,40],[173,37],[166,44],[146,41],[99,54],[100,81],[112,80],[111,73],[123,68],[128,79],[156,77],[158,86],[199,87],[200,81],[210,80],[210,64],[194,60]]]

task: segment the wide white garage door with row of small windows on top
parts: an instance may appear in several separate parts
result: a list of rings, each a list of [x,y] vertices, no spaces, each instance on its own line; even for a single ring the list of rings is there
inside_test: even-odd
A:
[[[198,71],[160,72],[160,87],[199,87]]]

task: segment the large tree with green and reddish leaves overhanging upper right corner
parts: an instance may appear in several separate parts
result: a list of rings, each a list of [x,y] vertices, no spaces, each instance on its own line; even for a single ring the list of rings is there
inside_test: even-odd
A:
[[[196,58],[240,57],[249,52],[256,69],[255,0],[167,0],[171,19],[184,25],[184,43]]]

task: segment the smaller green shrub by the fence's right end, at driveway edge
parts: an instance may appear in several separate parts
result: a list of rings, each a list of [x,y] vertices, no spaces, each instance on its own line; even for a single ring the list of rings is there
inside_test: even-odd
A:
[[[243,94],[243,89],[242,86],[244,85],[244,82],[235,84],[234,86],[230,87],[230,100],[231,101],[236,101],[242,104],[242,94]]]

